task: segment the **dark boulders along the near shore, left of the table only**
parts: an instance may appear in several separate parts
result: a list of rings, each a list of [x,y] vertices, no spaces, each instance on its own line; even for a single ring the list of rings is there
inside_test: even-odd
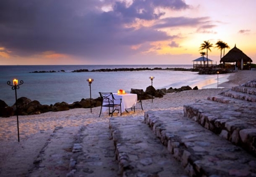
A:
[[[92,99],[92,107],[100,106],[100,98]],[[81,99],[71,104],[66,102],[57,102],[55,104],[47,105],[40,104],[37,100],[30,100],[26,97],[20,97],[17,99],[18,115],[36,115],[46,112],[58,112],[63,110],[69,110],[73,108],[90,108],[90,99]],[[16,115],[16,103],[12,106],[8,106],[3,100],[0,100],[0,117],[10,117]]]

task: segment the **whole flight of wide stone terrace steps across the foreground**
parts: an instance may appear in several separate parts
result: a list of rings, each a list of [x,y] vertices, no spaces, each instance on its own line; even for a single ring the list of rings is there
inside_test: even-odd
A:
[[[0,176],[256,176],[255,89],[256,80],[183,111],[39,132],[49,138],[31,165],[11,166],[29,156],[20,149]]]

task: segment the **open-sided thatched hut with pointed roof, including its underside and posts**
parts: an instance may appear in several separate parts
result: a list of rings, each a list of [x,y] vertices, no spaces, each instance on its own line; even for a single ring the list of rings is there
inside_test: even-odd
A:
[[[250,70],[252,60],[234,45],[234,48],[222,57],[220,62],[223,62],[223,69]]]

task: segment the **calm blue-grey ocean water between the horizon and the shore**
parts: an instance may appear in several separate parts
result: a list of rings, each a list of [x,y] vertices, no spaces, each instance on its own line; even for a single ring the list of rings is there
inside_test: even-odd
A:
[[[151,85],[148,78],[154,76],[155,89],[179,88],[189,85],[199,89],[217,88],[217,84],[227,81],[225,75],[199,75],[190,71],[120,71],[120,72],[72,72],[79,69],[115,69],[115,68],[193,68],[193,65],[0,65],[0,100],[8,105],[15,103],[15,91],[7,85],[14,78],[24,81],[19,86],[17,97],[27,97],[41,104],[54,104],[65,101],[73,103],[82,98],[90,98],[90,87],[86,81],[93,78],[92,98],[98,98],[99,92],[117,92],[122,89],[129,93],[131,88],[146,90]],[[30,73],[34,71],[61,71],[56,73]],[[218,83],[217,83],[218,82]]]

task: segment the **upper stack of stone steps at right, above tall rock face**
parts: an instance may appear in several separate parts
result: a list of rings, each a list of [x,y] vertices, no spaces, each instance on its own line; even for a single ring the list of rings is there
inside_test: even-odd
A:
[[[256,157],[256,80],[184,105],[184,115]],[[254,86],[254,87],[250,87]]]

